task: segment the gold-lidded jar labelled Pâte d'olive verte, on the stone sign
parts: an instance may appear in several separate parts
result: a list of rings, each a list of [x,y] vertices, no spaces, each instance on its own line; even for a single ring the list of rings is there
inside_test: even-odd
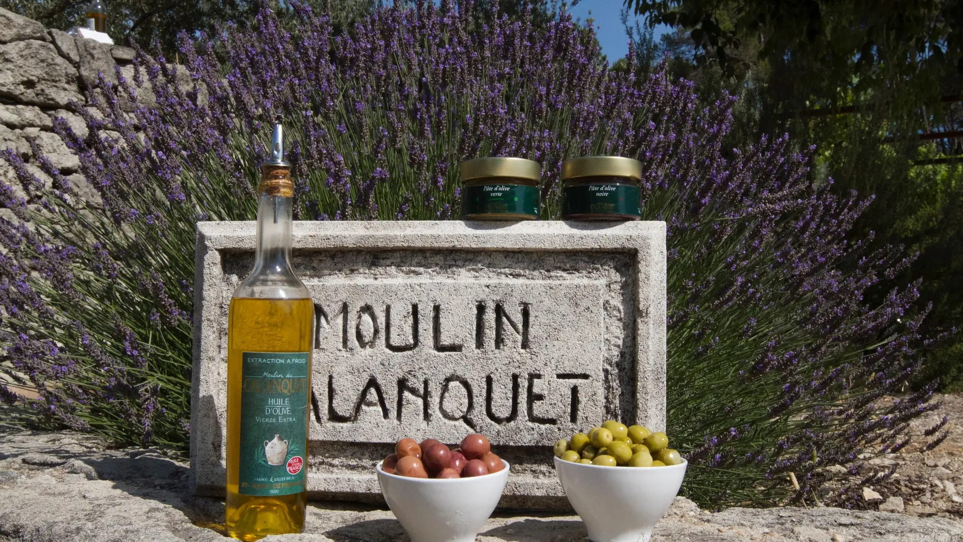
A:
[[[461,218],[536,220],[540,207],[541,165],[511,157],[461,162]]]

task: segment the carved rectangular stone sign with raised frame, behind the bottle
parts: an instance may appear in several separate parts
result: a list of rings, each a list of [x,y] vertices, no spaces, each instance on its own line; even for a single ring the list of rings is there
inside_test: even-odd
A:
[[[551,445],[617,418],[664,428],[662,222],[296,223],[315,306],[308,490],[377,500],[403,437],[487,435],[506,506],[553,507]],[[223,494],[227,308],[254,223],[200,223],[191,477]]]

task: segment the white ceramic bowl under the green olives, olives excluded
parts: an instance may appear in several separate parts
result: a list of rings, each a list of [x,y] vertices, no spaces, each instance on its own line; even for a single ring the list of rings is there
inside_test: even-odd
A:
[[[666,467],[600,467],[555,458],[561,487],[592,542],[648,542],[682,487],[689,462]]]

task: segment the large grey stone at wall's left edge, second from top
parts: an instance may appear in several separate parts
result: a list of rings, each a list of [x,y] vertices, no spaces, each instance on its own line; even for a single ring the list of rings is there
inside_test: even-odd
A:
[[[0,44],[0,96],[40,107],[83,103],[77,92],[77,69],[52,43],[27,40]]]

